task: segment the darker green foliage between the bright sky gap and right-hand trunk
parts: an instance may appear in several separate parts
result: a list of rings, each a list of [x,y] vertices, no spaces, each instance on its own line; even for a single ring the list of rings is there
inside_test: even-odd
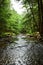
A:
[[[35,1],[23,0],[23,7],[26,8],[27,12],[23,17],[23,29],[25,33],[37,32],[39,29],[38,22],[38,4]]]

